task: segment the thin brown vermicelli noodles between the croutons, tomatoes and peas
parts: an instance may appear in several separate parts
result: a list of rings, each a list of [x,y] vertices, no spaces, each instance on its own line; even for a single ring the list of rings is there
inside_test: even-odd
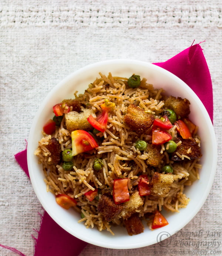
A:
[[[51,163],[50,152],[46,148],[51,135],[46,136],[38,143],[38,148],[35,154],[38,156],[39,163],[43,164],[45,174],[44,181],[46,182],[47,191],[58,194],[67,194],[68,196],[77,199],[78,205],[76,210],[82,212],[85,216],[79,222],[84,222],[85,226],[97,226],[98,230],[111,230],[111,224],[122,225],[120,216],[116,217],[112,222],[106,222],[101,214],[97,211],[97,200],[90,202],[84,196],[84,193],[95,188],[105,189],[112,188],[113,180],[116,178],[129,178],[129,193],[132,193],[138,184],[138,177],[141,174],[148,174],[151,178],[154,172],[161,172],[162,166],[169,164],[173,168],[174,182],[171,185],[171,190],[168,196],[164,198],[144,196],[142,200],[144,205],[137,211],[139,216],[145,216],[145,213],[152,213],[155,209],[162,208],[171,212],[179,212],[180,208],[186,207],[189,198],[184,193],[185,186],[190,186],[195,180],[199,179],[198,170],[201,165],[197,160],[181,161],[174,163],[169,159],[168,153],[164,146],[161,148],[161,153],[164,158],[157,167],[150,167],[146,163],[148,152],[140,152],[135,148],[137,140],[147,140],[151,142],[149,131],[146,134],[138,136],[136,132],[128,129],[125,123],[122,122],[124,115],[127,112],[129,104],[136,104],[145,111],[160,117],[164,109],[164,100],[162,97],[163,90],[155,90],[152,84],[148,84],[145,79],[142,79],[139,88],[128,88],[124,77],[113,77],[108,74],[106,77],[100,74],[100,78],[96,79],[84,94],[80,94],[77,98],[87,107],[91,107],[98,114],[101,112],[100,105],[104,103],[104,99],[115,102],[115,110],[109,114],[108,126],[104,133],[98,133],[98,137],[104,136],[101,145],[91,152],[81,153],[74,157],[74,167],[71,171],[66,171],[62,166],[54,166]],[[77,96],[77,92],[75,92]],[[170,130],[172,138],[177,136],[176,127]],[[53,137],[56,137],[61,145],[61,149],[71,148],[71,133],[65,129],[65,119],[61,126],[57,128]],[[200,140],[196,137],[198,143]],[[177,145],[181,143],[178,142]],[[189,153],[189,152],[188,152]],[[181,159],[188,159],[186,155],[180,155]],[[95,158],[100,158],[104,166],[100,172],[93,169]],[[124,164],[124,163],[131,164]],[[99,195],[100,196],[100,195]],[[148,220],[148,226],[151,225]]]

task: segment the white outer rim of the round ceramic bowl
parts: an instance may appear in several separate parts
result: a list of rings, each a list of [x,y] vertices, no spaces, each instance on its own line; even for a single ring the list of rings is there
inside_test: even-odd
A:
[[[32,164],[32,159],[33,159],[33,155],[34,153],[32,152],[32,141],[33,141],[33,135],[34,135],[34,131],[36,129],[36,124],[38,122],[38,119],[40,118],[40,114],[43,112],[44,109],[44,105],[48,102],[48,100],[50,100],[51,96],[53,94],[55,94],[59,89],[61,89],[61,87],[68,83],[70,80],[72,80],[74,77],[78,76],[78,74],[83,73],[87,70],[90,70],[92,68],[97,68],[100,67],[102,65],[112,65],[112,64],[124,64],[124,63],[132,63],[133,65],[145,65],[147,67],[152,67],[152,69],[157,70],[163,74],[165,74],[166,76],[169,76],[171,79],[173,79],[176,83],[179,84],[183,84],[187,90],[193,94],[193,97],[195,98],[195,100],[198,102],[198,104],[200,104],[201,106],[201,110],[202,110],[202,114],[204,115],[204,117],[206,118],[206,121],[208,123],[208,128],[210,130],[210,136],[211,139],[214,143],[216,143],[216,136],[215,136],[215,132],[213,129],[213,125],[211,122],[211,119],[203,105],[203,103],[201,102],[201,100],[199,99],[198,96],[196,96],[196,94],[192,91],[192,89],[185,84],[185,82],[183,82],[181,79],[179,79],[179,77],[175,76],[174,74],[172,74],[171,72],[163,69],[162,67],[159,67],[155,64],[151,64],[145,61],[139,61],[139,60],[130,60],[130,59],[114,59],[114,60],[105,60],[105,61],[100,61],[100,62],[96,62],[96,63],[92,63],[89,64],[87,66],[82,67],[81,69],[76,70],[75,72],[71,73],[70,75],[68,75],[67,77],[65,77],[63,80],[61,80],[61,82],[59,82],[56,86],[53,87],[53,89],[46,95],[45,99],[43,100],[43,102],[41,103],[41,105],[39,106],[37,113],[33,119],[33,123],[30,129],[30,134],[28,137],[28,143],[27,143],[27,161],[28,161],[28,170],[29,170],[29,174],[30,174],[30,179],[31,179],[31,183],[33,186],[33,189],[38,197],[38,200],[40,201],[41,205],[43,206],[43,208],[46,210],[46,212],[52,217],[52,219],[55,220],[55,222],[58,223],[58,225],[60,225],[63,229],[65,229],[68,233],[70,233],[73,236],[76,236],[77,238],[84,240],[88,243],[91,243],[93,245],[97,245],[97,246],[102,246],[102,247],[107,247],[107,248],[112,248],[112,249],[132,249],[132,248],[138,248],[138,247],[144,247],[144,246],[148,246],[148,245],[152,245],[154,243],[157,243],[157,240],[152,240],[148,242],[139,242],[139,243],[131,243],[130,245],[114,245],[112,243],[108,243],[108,242],[101,242],[101,241],[97,241],[95,239],[93,239],[92,237],[85,237],[82,234],[78,234],[77,232],[73,232],[73,230],[70,227],[64,226],[63,223],[61,222],[61,220],[58,218],[58,216],[51,212],[49,209],[49,206],[47,204],[47,202],[44,200],[43,195],[41,195],[41,191],[38,189],[38,184],[36,183],[36,179],[35,179],[35,170],[33,168],[33,164]],[[95,77],[98,74],[95,74]],[[154,85],[155,87],[155,85]],[[40,165],[41,166],[41,165]],[[172,230],[172,232],[170,233],[170,235],[172,236],[174,233],[176,233],[178,230],[182,229],[182,227],[184,227],[185,225],[187,225],[192,219],[193,217],[199,212],[199,210],[201,209],[201,207],[203,206],[203,204],[205,203],[206,198],[209,195],[209,192],[211,190],[212,184],[213,184],[213,180],[215,177],[215,172],[216,172],[216,166],[217,166],[217,147],[214,148],[214,154],[213,154],[213,159],[212,159],[212,171],[209,175],[209,180],[207,183],[207,186],[202,194],[201,200],[198,202],[198,204],[195,206],[195,211],[192,212],[188,217],[187,220],[185,222],[182,222],[181,225],[179,226],[179,228],[176,230]],[[52,194],[53,195],[53,194]],[[54,195],[53,195],[54,196]],[[87,229],[85,228],[86,232]],[[164,229],[161,228],[161,230],[159,230],[159,232],[164,232]],[[158,234],[156,232],[157,230],[154,230],[152,232],[154,232],[156,235]],[[102,232],[100,232],[102,233]],[[138,236],[138,235],[137,235]],[[164,239],[167,237],[164,237]]]

